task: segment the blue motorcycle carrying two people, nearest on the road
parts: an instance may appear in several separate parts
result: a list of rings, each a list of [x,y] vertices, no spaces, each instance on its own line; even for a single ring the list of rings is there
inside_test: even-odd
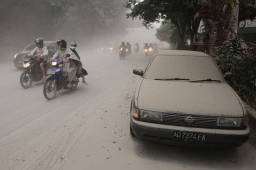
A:
[[[67,56],[66,56],[67,57]],[[63,60],[52,60],[51,67],[47,71],[46,82],[43,85],[43,95],[47,100],[55,98],[57,91],[60,90],[75,90],[78,85],[78,78],[72,82],[72,86],[68,87],[68,76],[63,76],[62,68],[64,66]]]

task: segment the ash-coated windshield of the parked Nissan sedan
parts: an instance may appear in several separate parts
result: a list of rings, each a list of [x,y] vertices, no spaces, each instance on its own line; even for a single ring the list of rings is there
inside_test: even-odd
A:
[[[158,55],[150,64],[145,78],[222,80],[220,71],[210,57]]]

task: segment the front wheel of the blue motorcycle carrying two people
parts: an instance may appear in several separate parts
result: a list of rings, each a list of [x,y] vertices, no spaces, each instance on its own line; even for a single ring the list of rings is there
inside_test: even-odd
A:
[[[47,100],[53,100],[57,93],[57,85],[54,83],[53,79],[46,80],[43,85],[43,95]]]

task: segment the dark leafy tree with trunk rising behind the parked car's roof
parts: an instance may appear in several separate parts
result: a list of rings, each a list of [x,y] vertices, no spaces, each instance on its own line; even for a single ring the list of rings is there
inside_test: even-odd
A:
[[[161,19],[170,19],[177,27],[180,38],[179,49],[185,48],[186,29],[193,37],[192,17],[197,6],[197,0],[129,0],[127,2],[127,8],[131,10],[128,17],[143,19],[143,25],[146,27],[150,27],[154,22],[159,23]]]

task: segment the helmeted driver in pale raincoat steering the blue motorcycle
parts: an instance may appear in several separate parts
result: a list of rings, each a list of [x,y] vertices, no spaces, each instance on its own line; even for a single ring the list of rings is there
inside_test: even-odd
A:
[[[58,59],[58,60],[64,61],[62,72],[63,72],[63,75],[67,75],[68,73],[69,84],[67,86],[70,88],[72,87],[72,81],[77,79],[76,77],[77,67],[76,67],[76,64],[72,60],[70,60],[70,58],[76,60],[75,58],[77,57],[69,48],[67,48],[67,42],[65,40],[58,40],[57,45],[60,48],[60,50],[56,51],[56,53],[53,55],[51,60]],[[67,54],[69,54],[69,57],[65,57],[67,56]]]

